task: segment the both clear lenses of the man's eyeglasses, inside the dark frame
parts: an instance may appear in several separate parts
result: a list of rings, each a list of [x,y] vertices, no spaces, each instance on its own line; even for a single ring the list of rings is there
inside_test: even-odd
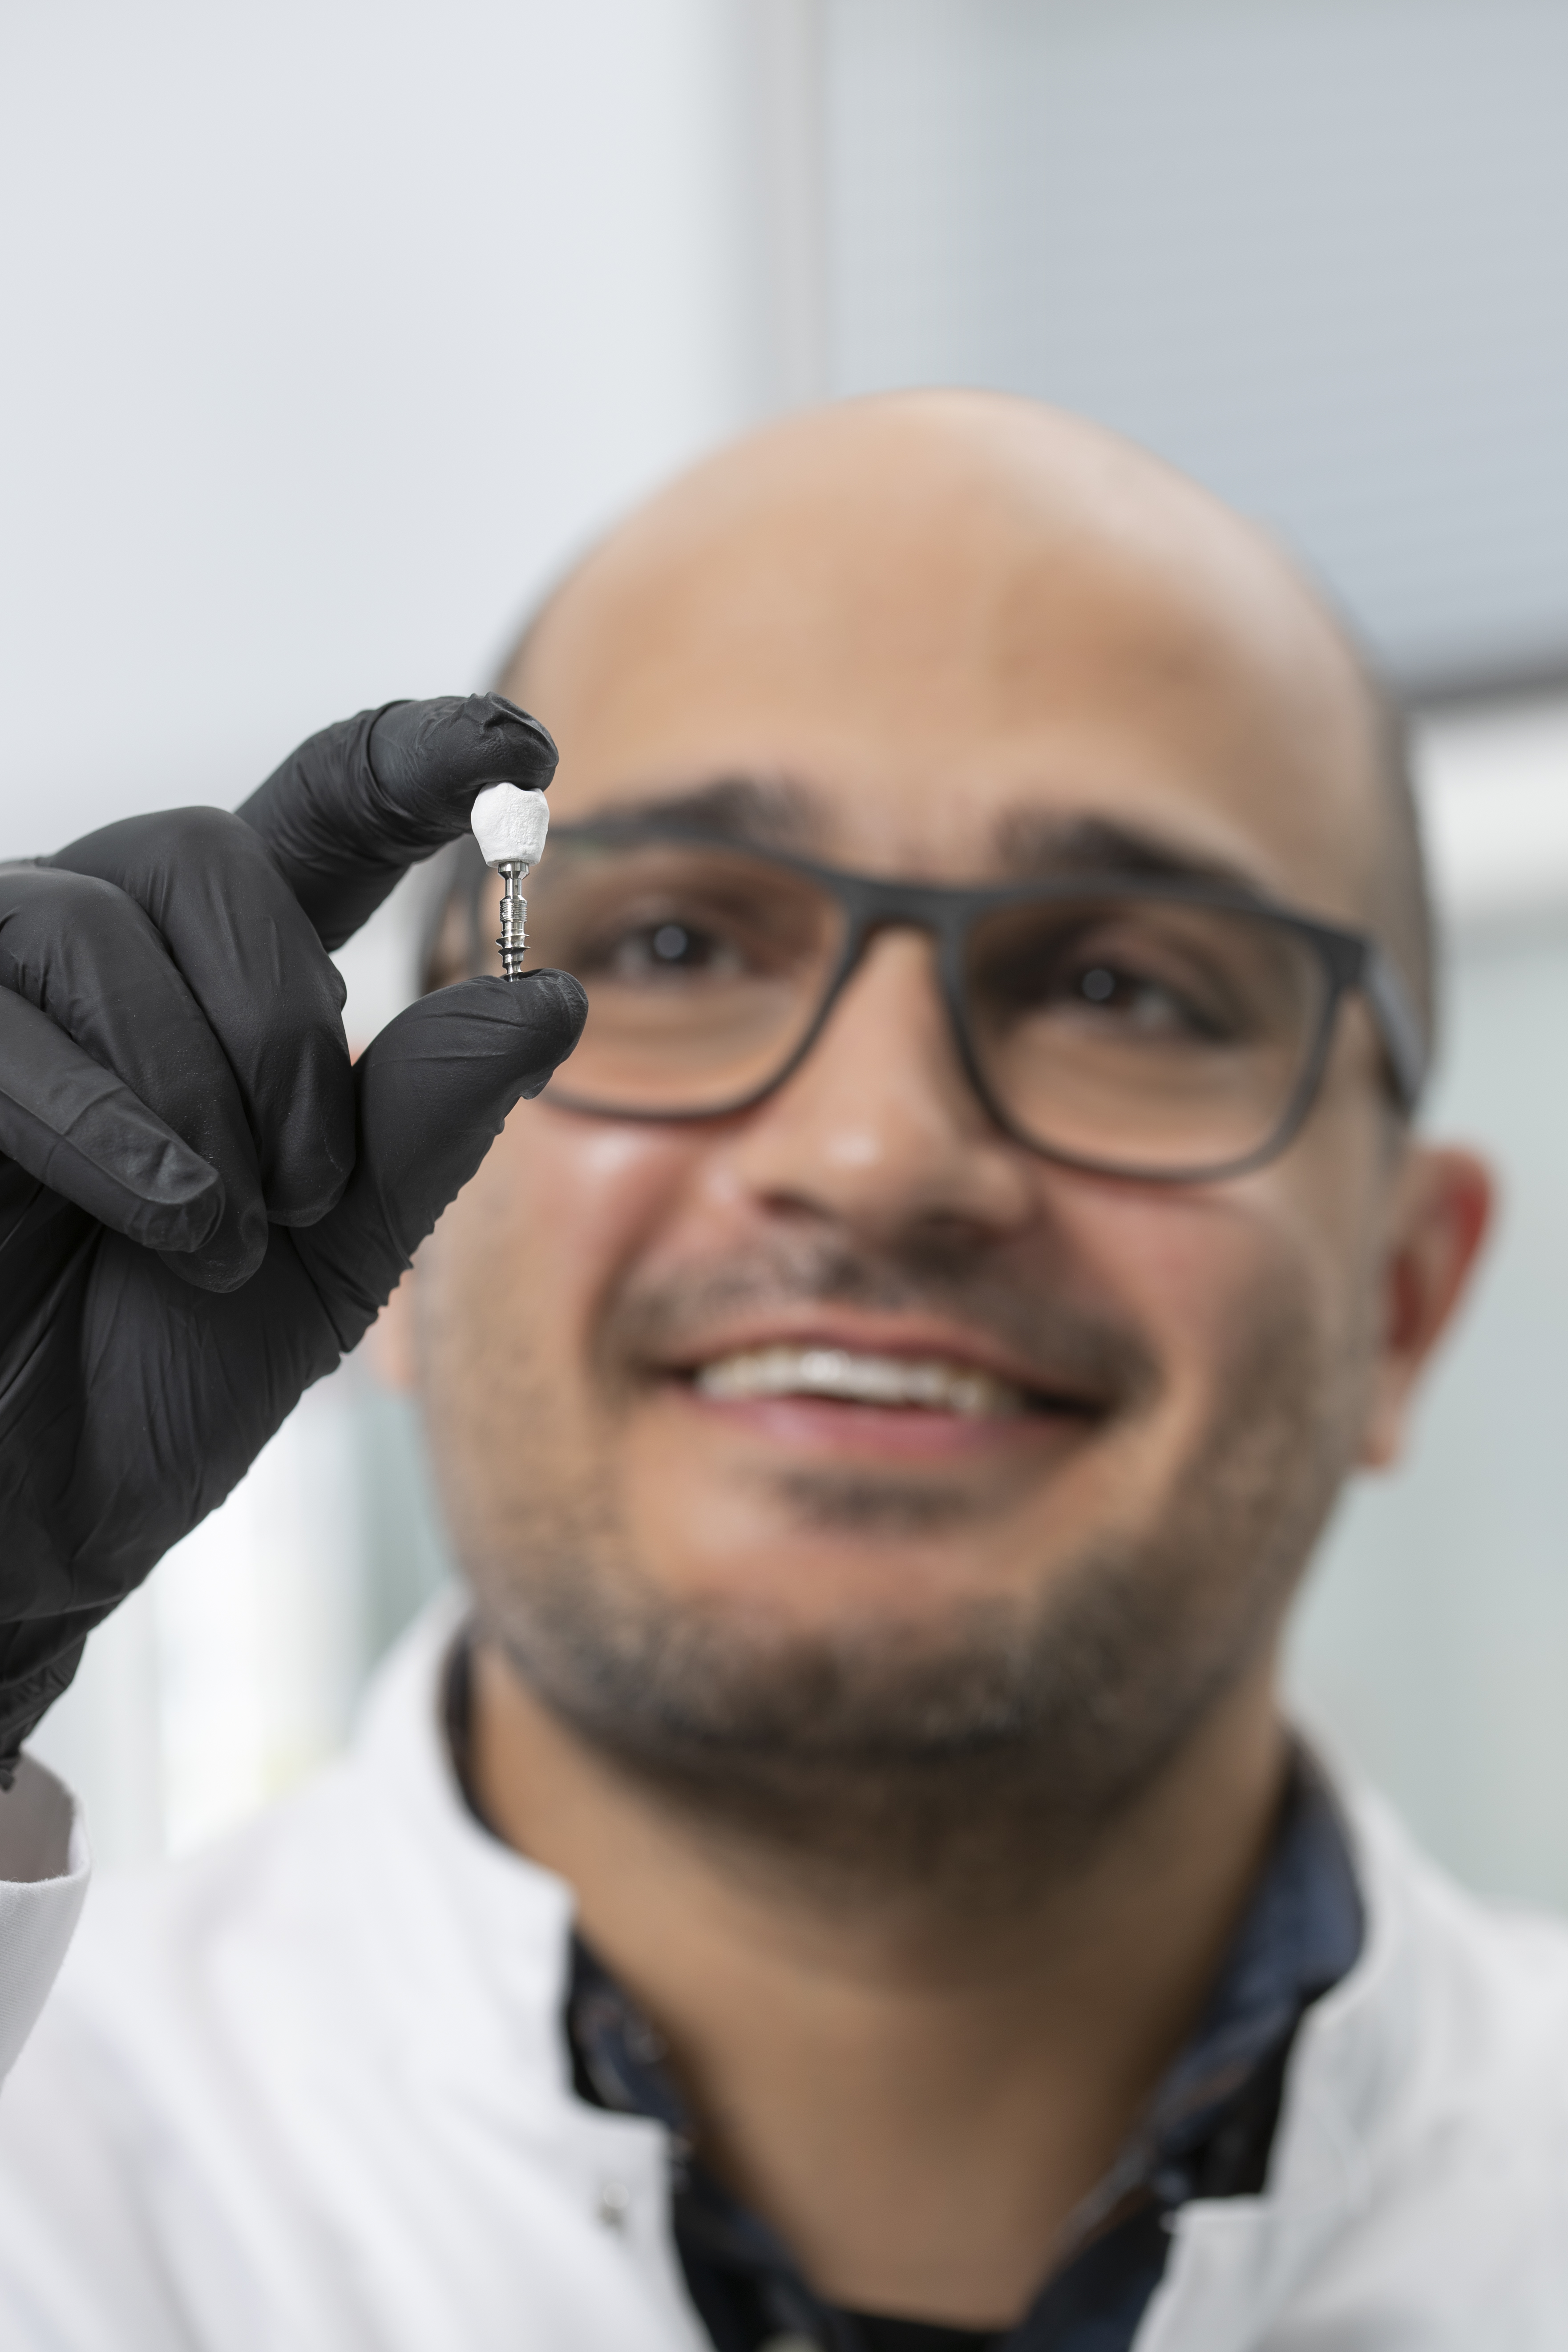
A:
[[[588,1028],[557,1098],[642,1117],[759,1094],[811,1033],[846,946],[839,901],[745,851],[569,842],[529,887],[529,962],[576,974]],[[1182,1174],[1265,1150],[1328,995],[1267,915],[1105,894],[1001,906],[966,936],[983,1084],[1041,1150]]]

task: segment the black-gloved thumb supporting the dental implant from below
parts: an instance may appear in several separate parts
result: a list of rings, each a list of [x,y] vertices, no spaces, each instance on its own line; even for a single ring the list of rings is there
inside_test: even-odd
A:
[[[381,1312],[442,1209],[578,1042],[567,971],[489,974],[409,1004],[355,1063],[360,1150],[331,1216],[294,1235],[343,1348]]]

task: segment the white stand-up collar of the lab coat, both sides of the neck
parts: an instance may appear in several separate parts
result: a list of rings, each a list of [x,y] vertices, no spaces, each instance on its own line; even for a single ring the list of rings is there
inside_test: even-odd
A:
[[[661,2124],[590,2107],[571,2093],[562,2006],[569,1985],[574,1896],[536,1863],[498,1844],[468,1811],[442,1726],[442,1663],[463,1602],[437,1602],[383,1668],[350,1764],[357,1804],[378,1811],[383,1863],[400,1853],[390,1917],[418,1929],[402,1952],[409,2025],[444,2018],[425,2037],[430,2063],[458,2063],[463,2096],[515,2103],[517,2065],[538,2084],[555,2157],[583,2176],[602,2216],[623,2211],[637,2256],[658,2286],[663,2317],[686,2345],[703,2336],[679,2281],[670,2232],[670,2143]],[[1194,2199],[1175,2216],[1175,2246],[1138,2333],[1138,2352],[1244,2352],[1368,2199],[1371,2150],[1408,2107],[1418,2070],[1420,1929],[1410,1877],[1425,1872],[1403,1832],[1368,1792],[1331,1773],[1366,1905],[1366,1936],[1349,1973],[1302,2020],[1286,2077],[1269,2183],[1260,2197]],[[407,1872],[423,1879],[418,1903]],[[390,1893],[390,1879],[388,1879]],[[451,2032],[454,1987],[489,1978],[470,2002],[475,2037]],[[1403,1990],[1401,1990],[1403,1987]],[[484,2020],[505,2020],[508,2049],[484,2046]],[[456,2056],[461,2053],[461,2056]],[[505,2091],[501,2091],[505,2086]],[[1399,2129],[1399,2124],[1394,2124]]]

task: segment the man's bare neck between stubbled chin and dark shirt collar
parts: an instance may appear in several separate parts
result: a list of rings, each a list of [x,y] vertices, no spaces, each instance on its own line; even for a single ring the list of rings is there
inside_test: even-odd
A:
[[[475,1658],[475,1795],[576,1889],[670,2046],[705,2164],[832,2303],[959,2326],[1027,2307],[1204,2006],[1267,1849],[1272,1661],[1086,1851],[851,1889],[649,1788]],[[994,1879],[994,1867],[987,1872]]]

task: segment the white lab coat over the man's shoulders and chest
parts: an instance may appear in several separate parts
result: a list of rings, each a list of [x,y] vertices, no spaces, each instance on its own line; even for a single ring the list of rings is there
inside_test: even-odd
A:
[[[698,2352],[661,2126],[571,2093],[571,1896],[465,1813],[435,1613],[353,1757],[94,1893],[0,2100],[16,2352]],[[1568,1931],[1373,1799],[1269,2187],[1192,2204],[1138,2352],[1566,2352]]]

